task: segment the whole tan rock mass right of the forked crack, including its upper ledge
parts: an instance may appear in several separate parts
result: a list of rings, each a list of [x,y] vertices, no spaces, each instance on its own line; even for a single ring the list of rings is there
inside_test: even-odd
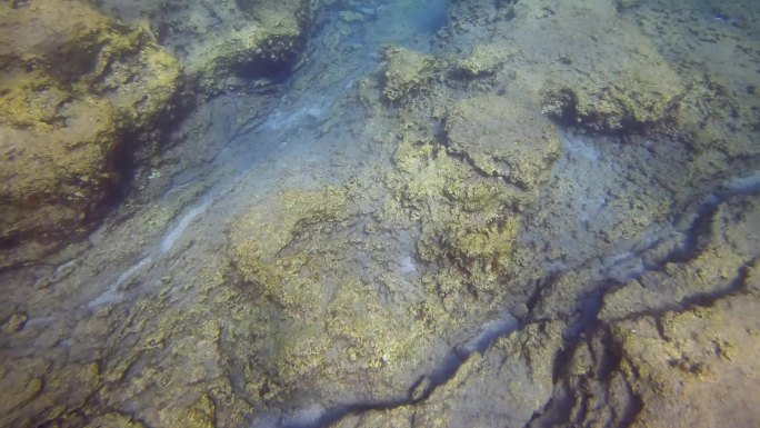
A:
[[[757,198],[727,201],[693,258],[609,292],[536,426],[754,425],[759,231]]]

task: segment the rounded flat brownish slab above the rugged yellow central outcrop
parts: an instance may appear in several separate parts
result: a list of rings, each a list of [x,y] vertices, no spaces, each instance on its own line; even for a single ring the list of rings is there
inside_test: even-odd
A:
[[[449,113],[446,131],[451,151],[463,155],[482,173],[534,190],[559,156],[553,125],[534,109],[493,94],[461,101]]]

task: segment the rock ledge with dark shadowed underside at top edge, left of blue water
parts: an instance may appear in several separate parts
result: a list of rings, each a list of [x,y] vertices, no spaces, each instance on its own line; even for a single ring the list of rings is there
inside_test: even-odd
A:
[[[103,13],[150,28],[204,94],[287,76],[307,46],[310,0],[98,2]]]

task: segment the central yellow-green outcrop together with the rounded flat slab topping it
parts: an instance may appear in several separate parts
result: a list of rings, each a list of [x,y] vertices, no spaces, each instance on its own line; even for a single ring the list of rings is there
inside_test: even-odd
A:
[[[493,93],[451,106],[441,126],[446,133],[433,138],[423,123],[431,104],[434,111],[449,99],[444,72],[432,73],[436,91],[420,98],[432,100],[401,104],[396,171],[386,186],[419,223],[422,283],[437,298],[420,310],[436,313],[442,306],[444,320],[464,313],[478,319],[508,292],[503,281],[521,211],[534,201],[559,143],[538,108]]]

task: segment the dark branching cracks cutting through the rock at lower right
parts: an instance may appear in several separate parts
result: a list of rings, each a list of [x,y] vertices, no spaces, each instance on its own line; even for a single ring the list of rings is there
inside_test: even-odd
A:
[[[463,157],[463,159],[467,161],[467,157]],[[697,208],[689,213],[681,216],[678,218],[676,221],[673,221],[673,225],[676,226],[676,230],[679,233],[683,233],[686,236],[684,240],[689,245],[684,248],[684,251],[687,252],[671,252],[670,255],[666,256],[663,260],[659,261],[656,266],[652,268],[649,268],[647,270],[652,270],[657,269],[659,267],[664,266],[668,262],[679,262],[679,261],[686,261],[686,260],[680,260],[684,255],[690,255],[687,260],[690,260],[693,258],[696,255],[698,255],[702,248],[699,248],[700,246],[698,245],[698,239],[702,235],[702,231],[706,230],[704,228],[700,228],[700,225],[709,225],[710,219],[714,216],[718,207],[723,203],[724,201],[733,198],[733,197],[740,197],[740,196],[748,196],[748,195],[753,195],[756,192],[760,191],[760,171],[756,172],[753,176],[749,176],[746,178],[733,178],[730,181],[724,182],[720,188],[718,188],[716,191],[710,193],[701,203],[697,206]],[[689,219],[691,221],[689,221]],[[684,221],[687,223],[684,225]],[[679,222],[681,223],[681,227],[678,227]],[[653,249],[656,246],[660,245],[663,239],[668,239],[670,236],[664,236],[661,237],[660,239],[651,242],[648,246],[644,246],[642,248],[637,249],[636,251],[631,251],[631,255],[629,257],[626,257],[622,260],[617,261],[616,263],[607,267],[604,269],[607,272],[611,270],[611,268],[623,263],[631,258],[641,258],[646,256],[646,252]],[[753,260],[752,262],[756,262],[757,260]],[[586,269],[591,268],[589,262],[583,263]],[[707,301],[714,301],[716,299],[719,299],[730,292],[734,292],[736,289],[740,287],[742,283],[746,282],[746,276],[747,271],[749,270],[749,265],[747,263],[740,269],[740,273],[737,278],[734,278],[731,283],[733,286],[728,287],[726,292],[718,292],[717,295],[708,296]],[[616,280],[611,280],[608,276],[608,273],[602,270],[600,273],[602,273],[602,278],[598,281],[598,283],[601,285],[601,287],[587,292],[580,301],[580,307],[578,310],[580,311],[580,318],[574,321],[570,322],[566,329],[566,346],[563,347],[562,350],[557,356],[556,362],[554,362],[554,369],[553,369],[553,379],[557,381],[557,379],[566,379],[569,370],[568,364],[558,364],[558,361],[564,361],[569,360],[569,357],[573,355],[573,352],[577,350],[578,346],[581,344],[587,344],[587,339],[584,339],[584,332],[592,331],[594,329],[603,329],[606,331],[604,338],[607,339],[606,341],[610,340],[610,332],[609,332],[609,325],[606,322],[601,322],[598,319],[599,311],[602,308],[602,302],[604,299],[604,296],[612,289],[614,289],[614,286],[618,285],[619,282]],[[743,272],[743,273],[741,273]],[[641,276],[642,273],[633,273],[631,278],[629,279],[637,279]],[[501,329],[489,329],[484,328],[481,330],[481,332],[470,339],[469,341],[462,342],[458,346],[454,346],[449,354],[447,354],[443,359],[440,361],[439,366],[434,368],[432,371],[430,371],[428,375],[421,376],[418,379],[414,380],[414,382],[411,384],[407,391],[406,397],[399,397],[399,398],[391,398],[387,400],[377,400],[377,401],[357,401],[357,402],[349,402],[349,404],[342,404],[342,405],[337,405],[333,407],[328,408],[327,410],[322,411],[318,417],[316,418],[298,418],[298,415],[292,415],[289,417],[281,417],[279,421],[277,422],[277,427],[281,428],[321,428],[321,427],[329,427],[344,417],[353,414],[361,414],[361,412],[367,412],[367,411],[372,411],[372,410],[392,410],[401,406],[416,406],[421,402],[424,402],[433,392],[434,390],[447,384],[449,380],[451,380],[456,375],[459,368],[467,361],[467,359],[477,352],[484,352],[490,348],[490,346],[500,337],[508,336],[509,334],[512,334],[517,330],[520,330],[522,327],[524,327],[528,324],[537,322],[540,321],[540,319],[534,319],[532,317],[532,309],[540,303],[541,297],[542,297],[542,291],[546,290],[549,287],[552,287],[556,283],[556,280],[560,277],[560,275],[554,275],[548,279],[539,280],[539,283],[536,287],[536,291],[530,296],[529,299],[529,315],[524,317],[523,320],[518,321],[514,317],[511,315],[508,315],[502,321],[504,325],[501,327]],[[688,300],[684,300],[687,306],[693,306],[693,305],[688,305]],[[703,298],[697,299],[694,301],[694,305],[704,302]],[[488,325],[486,325],[488,326]],[[484,327],[486,327],[484,326]],[[590,345],[590,344],[589,344]],[[614,347],[612,347],[614,348]],[[611,364],[606,365],[609,370],[604,370],[606,374],[603,374],[604,379],[598,379],[599,381],[606,382],[606,385],[609,386],[609,382],[611,381],[611,377],[614,374],[614,367],[617,367],[620,364],[620,352],[614,352],[614,350],[610,348],[610,344],[604,346],[604,352],[610,352],[609,357],[613,357],[617,359],[617,361],[608,361]],[[564,358],[560,358],[564,357]],[[558,386],[559,387],[559,386]],[[572,392],[572,388],[569,385],[566,385],[568,392]],[[640,411],[641,409],[641,404],[640,399],[632,392],[630,389],[630,386],[627,385],[628,392],[629,392],[629,398],[633,400],[633,402],[629,402],[633,407],[630,408],[628,406],[624,410],[624,415],[621,415],[621,418],[624,421],[630,421],[632,420],[636,415]],[[557,390],[556,390],[557,394]],[[556,410],[556,406],[567,406],[568,401],[572,399],[571,396],[572,394],[567,394],[567,397],[564,398],[563,402],[559,402],[561,397],[556,397],[552,396],[552,399],[549,400],[547,404],[547,407],[544,407],[543,411],[537,412],[531,420],[528,422],[528,425],[531,425],[533,422],[537,422],[539,418],[541,418],[544,415],[548,415],[549,412],[552,412]],[[584,399],[584,398],[583,398]],[[637,401],[638,400],[638,401]],[[637,405],[638,402],[638,405]],[[588,404],[586,404],[588,406]],[[571,409],[570,409],[571,410]],[[569,415],[569,414],[568,414]],[[551,417],[551,416],[550,416]],[[567,416],[566,416],[567,417]],[[257,425],[256,427],[260,427],[261,425]]]

